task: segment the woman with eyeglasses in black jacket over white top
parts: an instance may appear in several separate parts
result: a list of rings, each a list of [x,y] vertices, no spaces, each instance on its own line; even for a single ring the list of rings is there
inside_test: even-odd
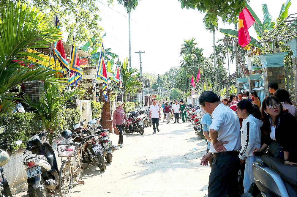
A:
[[[275,96],[268,96],[262,102],[262,121],[264,144],[255,148],[263,152],[268,146],[268,153],[285,160],[285,164],[296,165],[296,119]]]

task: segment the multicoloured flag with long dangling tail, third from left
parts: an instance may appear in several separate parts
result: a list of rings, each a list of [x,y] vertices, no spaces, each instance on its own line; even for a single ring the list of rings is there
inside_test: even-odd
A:
[[[97,77],[100,77],[103,80],[102,94],[104,96],[105,101],[107,101],[108,100],[108,96],[107,96],[108,78],[106,73],[105,53],[104,53],[103,43],[102,43],[101,52],[100,52],[99,61],[98,61]]]

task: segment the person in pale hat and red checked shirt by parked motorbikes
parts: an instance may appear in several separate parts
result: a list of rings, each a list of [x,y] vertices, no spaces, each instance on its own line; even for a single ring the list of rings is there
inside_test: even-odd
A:
[[[113,112],[113,128],[117,128],[120,133],[118,146],[123,146],[125,121],[128,126],[130,124],[123,109],[124,104],[125,103],[122,103],[121,101],[116,102],[116,110]]]

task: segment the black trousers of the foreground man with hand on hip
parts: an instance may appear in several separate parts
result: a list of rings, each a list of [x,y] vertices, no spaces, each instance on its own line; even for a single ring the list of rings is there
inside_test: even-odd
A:
[[[238,191],[238,155],[219,155],[214,158],[208,181],[208,197],[240,197]]]

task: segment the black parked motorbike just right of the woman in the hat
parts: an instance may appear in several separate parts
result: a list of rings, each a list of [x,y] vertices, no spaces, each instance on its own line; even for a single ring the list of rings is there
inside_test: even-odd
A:
[[[127,114],[128,120],[130,124],[126,124],[124,131],[125,133],[139,133],[140,135],[143,135],[144,128],[147,126],[146,124],[143,124],[141,121],[140,116],[134,117],[130,112]],[[134,117],[134,118],[133,118]]]

